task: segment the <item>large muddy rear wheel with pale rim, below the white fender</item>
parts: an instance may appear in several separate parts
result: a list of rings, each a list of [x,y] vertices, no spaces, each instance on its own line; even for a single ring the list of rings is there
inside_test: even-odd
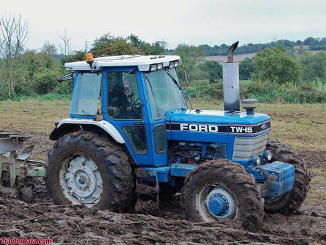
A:
[[[45,169],[45,184],[54,204],[85,204],[114,212],[130,208],[128,156],[108,137],[88,131],[61,137],[48,153]]]

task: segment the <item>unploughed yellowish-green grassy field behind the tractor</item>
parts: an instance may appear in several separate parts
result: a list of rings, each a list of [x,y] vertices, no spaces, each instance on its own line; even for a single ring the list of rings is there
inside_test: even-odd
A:
[[[193,107],[221,110],[223,101],[194,99]],[[69,115],[70,101],[25,100],[0,101],[0,130],[31,135],[30,144],[36,144],[33,159],[46,160],[53,142],[48,139],[54,122]],[[312,156],[309,166],[312,172],[312,187],[307,204],[326,207],[326,108],[323,104],[258,104],[256,112],[272,117],[271,139],[287,142],[303,155]]]

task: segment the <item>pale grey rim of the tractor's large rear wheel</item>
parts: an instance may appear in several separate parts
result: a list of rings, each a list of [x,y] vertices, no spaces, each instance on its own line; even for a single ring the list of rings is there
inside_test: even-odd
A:
[[[83,155],[63,161],[60,169],[60,186],[63,195],[72,204],[94,206],[103,193],[99,168],[92,159]]]

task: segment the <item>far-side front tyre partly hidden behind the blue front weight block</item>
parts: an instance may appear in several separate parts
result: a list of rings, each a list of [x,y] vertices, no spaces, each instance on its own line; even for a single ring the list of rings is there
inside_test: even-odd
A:
[[[272,150],[272,161],[283,161],[295,167],[294,188],[288,193],[277,198],[265,198],[265,211],[267,213],[289,214],[297,210],[309,190],[310,173],[305,166],[305,161],[300,159],[298,152],[289,145],[277,140],[267,143],[267,150]]]

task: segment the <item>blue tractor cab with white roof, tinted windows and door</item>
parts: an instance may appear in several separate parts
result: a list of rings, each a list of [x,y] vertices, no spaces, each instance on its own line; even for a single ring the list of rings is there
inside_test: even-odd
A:
[[[179,63],[179,56],[138,55],[94,59],[92,66],[66,63],[75,72],[74,91],[70,119],[58,126],[91,122],[119,138],[135,164],[165,166],[167,112],[187,108],[176,73]]]

